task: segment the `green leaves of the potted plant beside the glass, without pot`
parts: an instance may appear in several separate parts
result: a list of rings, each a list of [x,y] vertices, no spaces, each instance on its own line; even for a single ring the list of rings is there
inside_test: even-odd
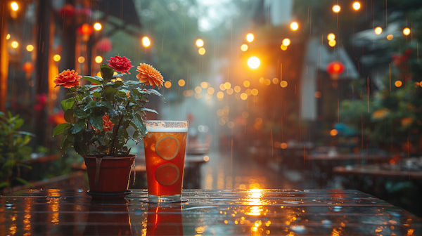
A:
[[[95,85],[74,87],[69,93],[72,98],[62,101],[68,123],[56,126],[53,135],[63,135],[60,146],[65,152],[68,147],[74,147],[79,155],[117,157],[129,154],[128,140],[137,143],[146,136],[142,115],[157,112],[145,105],[151,94],[162,95],[153,89],[143,89],[144,84],[140,88],[139,81],[117,80],[127,74],[113,75],[114,72],[108,65],[101,65],[103,78],[84,76]],[[134,130],[130,132],[132,135],[127,132],[129,127]]]

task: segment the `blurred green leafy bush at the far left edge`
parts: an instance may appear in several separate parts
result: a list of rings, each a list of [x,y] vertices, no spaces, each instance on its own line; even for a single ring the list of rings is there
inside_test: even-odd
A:
[[[11,188],[12,181],[31,186],[19,177],[20,168],[31,169],[24,161],[30,158],[32,149],[26,145],[34,136],[32,133],[20,131],[23,123],[19,115],[13,117],[10,112],[8,115],[0,112],[0,188]]]

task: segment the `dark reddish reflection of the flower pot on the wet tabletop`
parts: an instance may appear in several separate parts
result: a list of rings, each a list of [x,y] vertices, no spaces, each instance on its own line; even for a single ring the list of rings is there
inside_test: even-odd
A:
[[[91,200],[84,235],[132,235],[128,202]]]

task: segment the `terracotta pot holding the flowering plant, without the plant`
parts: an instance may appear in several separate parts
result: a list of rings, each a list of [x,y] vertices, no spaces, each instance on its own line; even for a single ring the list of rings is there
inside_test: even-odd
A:
[[[94,199],[120,199],[128,193],[130,169],[136,155],[102,157],[84,155],[89,179],[89,194]],[[98,163],[97,163],[98,162]],[[97,171],[99,166],[99,171]]]

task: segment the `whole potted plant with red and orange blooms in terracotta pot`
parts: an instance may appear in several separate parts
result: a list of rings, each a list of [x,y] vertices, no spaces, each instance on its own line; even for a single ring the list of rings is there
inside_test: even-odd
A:
[[[64,151],[73,147],[84,157],[92,197],[119,198],[130,192],[130,169],[136,157],[129,154],[127,141],[138,143],[146,136],[142,116],[157,112],[145,105],[152,94],[162,97],[154,87],[160,88],[164,79],[151,65],[141,63],[136,70],[139,81],[123,81],[133,65],[118,55],[100,67],[101,77],[81,76],[74,70],[58,74],[54,83],[69,89],[72,97],[61,102],[66,123],[56,126],[53,136],[63,134],[60,147]],[[82,78],[91,84],[82,86]],[[152,89],[145,89],[146,85]]]

